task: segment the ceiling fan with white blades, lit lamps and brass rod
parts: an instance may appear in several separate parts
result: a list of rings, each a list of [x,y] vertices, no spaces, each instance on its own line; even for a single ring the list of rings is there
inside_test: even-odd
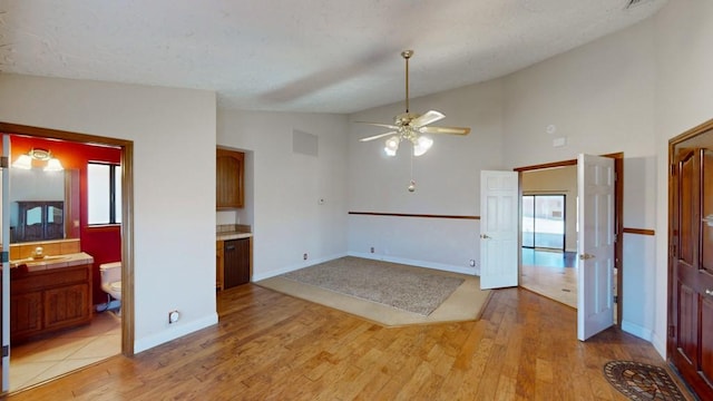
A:
[[[429,110],[422,115],[409,111],[409,59],[412,56],[413,50],[404,50],[401,52],[401,57],[406,60],[406,113],[395,116],[393,124],[356,121],[391,129],[388,133],[359,139],[361,141],[369,141],[391,136],[387,139],[387,146],[384,148],[389,156],[395,156],[401,140],[409,140],[413,144],[413,156],[423,155],[431,145],[433,145],[433,140],[429,137],[421,136],[421,134],[468,135],[470,133],[470,128],[429,126],[446,117],[440,111]]]

